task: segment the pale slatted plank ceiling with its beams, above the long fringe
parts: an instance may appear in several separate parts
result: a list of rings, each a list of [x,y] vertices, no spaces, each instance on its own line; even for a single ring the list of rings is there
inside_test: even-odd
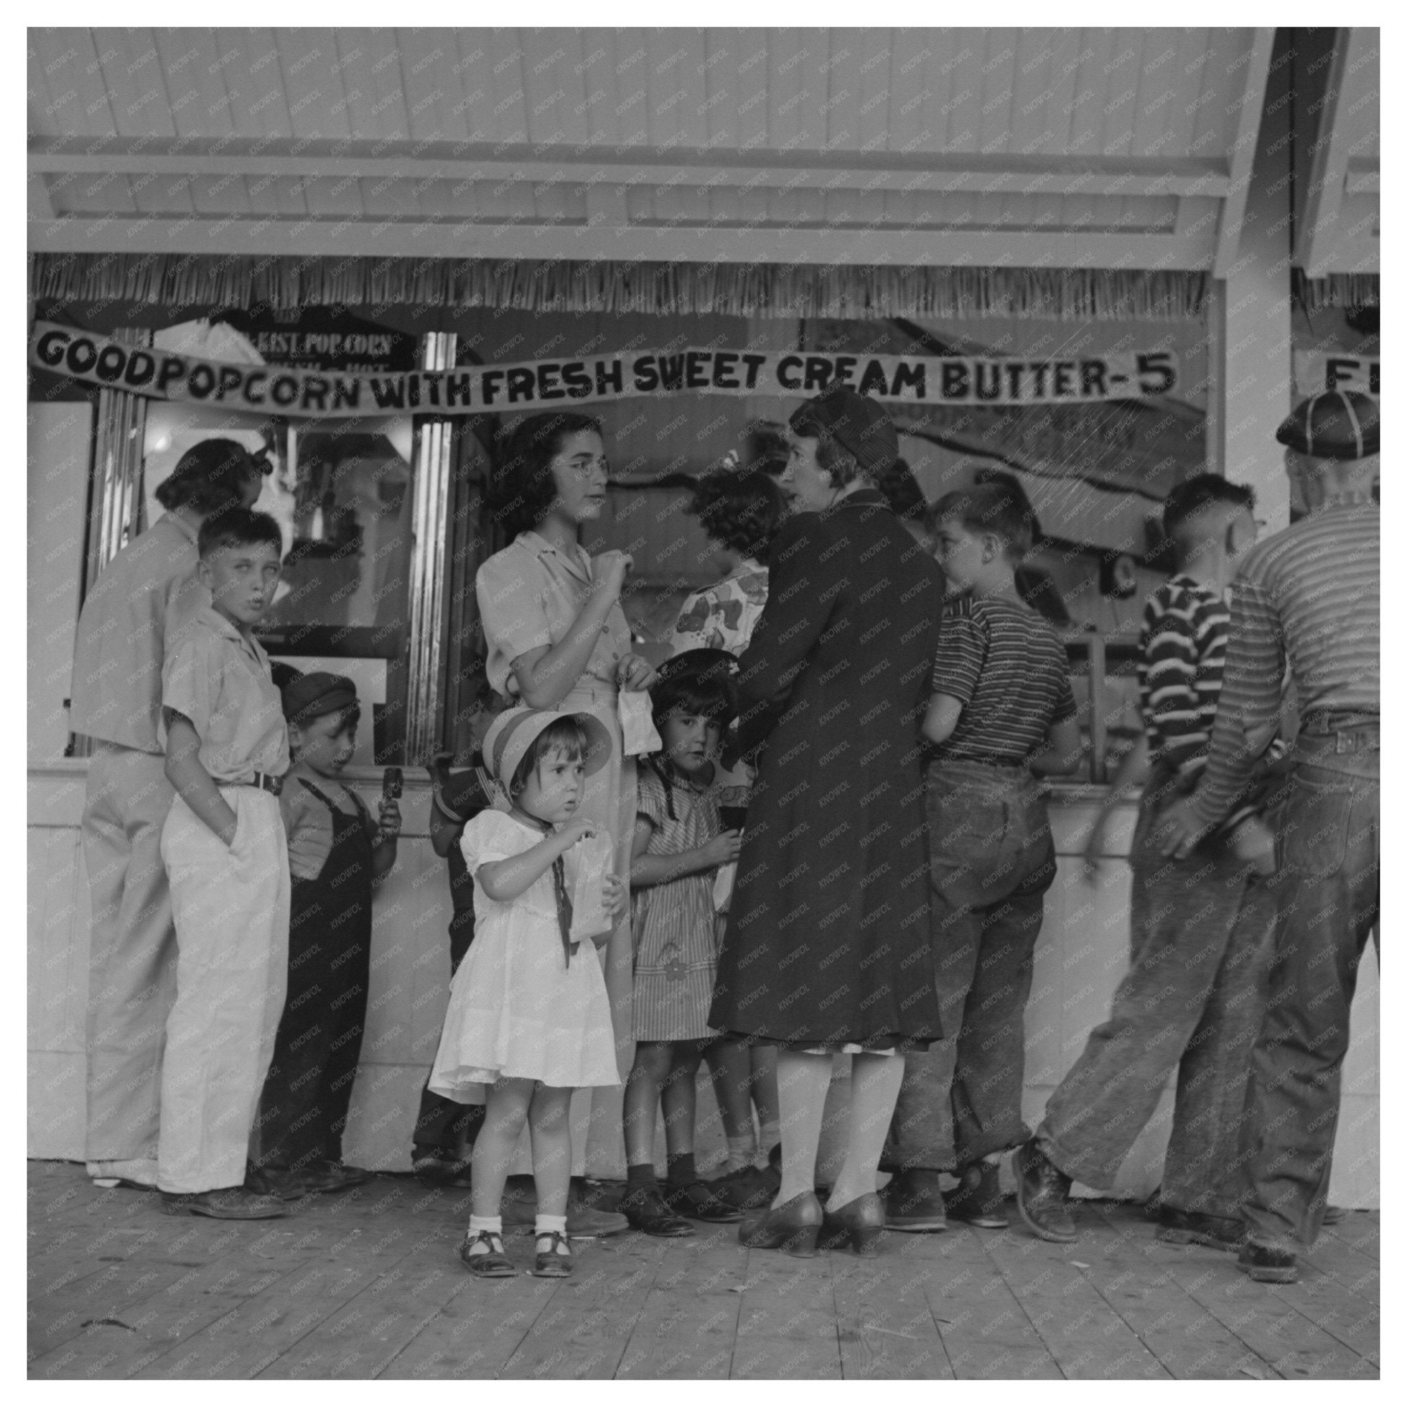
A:
[[[815,235],[802,241],[810,257],[840,249],[860,259],[851,235],[872,228],[885,236],[874,257],[960,263],[982,260],[979,236],[991,231],[1003,236],[992,246],[1003,259],[1017,248],[1005,236],[1026,232],[1031,263],[1204,267],[1214,239],[1202,215],[1224,190],[1189,187],[1176,163],[1197,142],[1209,173],[1227,170],[1251,35],[41,31],[31,39],[31,176],[49,200],[38,200],[32,224],[45,248],[93,248],[93,231],[69,217],[139,214],[151,218],[134,238],[152,249],[177,246],[162,246],[165,231],[190,248],[215,238],[217,252],[280,252],[287,241],[274,227],[298,219],[326,253],[366,243],[348,228],[366,222],[388,253],[453,248],[457,224],[466,253],[512,252],[543,227],[561,236],[545,249],[582,257],[729,259],[775,255],[771,234],[787,229]],[[90,160],[75,176],[61,144],[42,165],[46,139],[113,136],[141,151],[108,151],[106,169]],[[179,155],[163,166],[160,153],[180,153],[182,142],[193,144],[190,169]],[[483,155],[456,158],[463,144]],[[637,174],[626,155],[636,149]],[[300,162],[298,152],[308,155]],[[339,152],[352,155],[339,162]],[[732,158],[734,170],[711,174],[695,155],[705,152],[720,167]],[[853,152],[874,174],[833,170],[826,152]],[[265,169],[260,153],[274,158]],[[986,165],[934,174],[961,153]],[[924,169],[926,155],[936,166]],[[619,170],[592,176],[616,156]],[[1095,163],[1089,173],[1081,158]],[[1116,169],[1099,166],[1110,158],[1144,158],[1148,169],[1110,179]],[[1159,163],[1179,190],[1151,180]],[[196,218],[177,234],[176,215]],[[217,236],[201,228],[217,222]],[[118,225],[114,238],[127,231]],[[450,235],[424,243],[435,227]],[[564,227],[575,245],[561,243]],[[1141,232],[1171,242],[1140,246]],[[950,234],[976,238],[940,249],[934,239]]]

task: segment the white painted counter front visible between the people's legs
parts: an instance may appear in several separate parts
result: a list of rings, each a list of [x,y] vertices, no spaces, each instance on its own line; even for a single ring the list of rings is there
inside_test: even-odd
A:
[[[87,881],[77,844],[82,764],[31,772],[30,805],[30,1157],[80,1158],[83,1135],[83,1021],[87,993]],[[376,802],[374,785],[359,785]],[[433,1058],[449,991],[449,885],[445,862],[426,836],[428,791],[414,774],[402,799],[407,829],[397,868],[376,900],[371,995],[362,1067],[348,1123],[346,1157],[391,1169],[409,1165],[409,1134],[425,1071]],[[1128,955],[1126,855],[1134,810],[1123,808],[1112,827],[1109,860],[1097,888],[1085,884],[1079,855],[1097,806],[1088,795],[1057,801],[1051,810],[1059,855],[1037,950],[1027,1009],[1024,1113],[1040,1120],[1051,1090],[1083,1048],[1085,1036],[1109,1012],[1109,998]],[[1377,1164],[1377,972],[1365,960],[1354,1003],[1352,1044],[1344,1067],[1344,1107],[1335,1145],[1331,1197],[1346,1206],[1379,1204]],[[827,1109],[848,1099],[846,1061]],[[1119,1190],[1145,1195],[1158,1178],[1171,1096],[1140,1137]],[[718,1151],[716,1114],[699,1093],[701,1158]],[[840,1150],[822,1144],[822,1175],[833,1175]],[[615,1155],[619,1158],[619,1150]],[[523,1165],[526,1166],[526,1165]],[[602,1175],[622,1166],[598,1150]]]

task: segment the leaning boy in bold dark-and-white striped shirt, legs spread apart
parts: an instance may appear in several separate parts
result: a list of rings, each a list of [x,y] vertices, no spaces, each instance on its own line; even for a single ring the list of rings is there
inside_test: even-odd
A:
[[[1238,1116],[1261,1029],[1273,908],[1224,833],[1169,862],[1157,832],[1169,801],[1186,796],[1206,767],[1230,623],[1223,594],[1255,542],[1251,492],[1197,476],[1168,495],[1164,528],[1179,570],[1144,611],[1145,737],[1112,789],[1113,802],[1151,764],[1130,853],[1130,969],[1109,1020],[1090,1033],[1036,1137],[1016,1154],[1021,1217],[1047,1241],[1075,1240],[1071,1182],[1113,1188],[1173,1069],[1159,1240],[1235,1247],[1242,1235]]]

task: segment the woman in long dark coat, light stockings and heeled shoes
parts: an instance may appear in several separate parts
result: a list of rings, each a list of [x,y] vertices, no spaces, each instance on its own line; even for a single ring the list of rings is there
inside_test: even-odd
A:
[[[898,453],[874,401],[833,387],[791,419],[801,509],[772,540],[740,660],[739,747],[757,754],[709,1024],[781,1047],[782,1185],[740,1240],[809,1254],[832,1055],[854,1055],[825,1244],[872,1249],[875,1169],[903,1048],[937,1040],[919,723],[943,571],[874,487]],[[760,750],[760,751],[758,751]]]

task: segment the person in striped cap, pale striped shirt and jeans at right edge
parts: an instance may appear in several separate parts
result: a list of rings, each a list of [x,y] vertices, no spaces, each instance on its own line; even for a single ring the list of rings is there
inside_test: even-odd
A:
[[[1377,431],[1376,404],[1355,391],[1321,393],[1280,425],[1310,512],[1251,553],[1237,577],[1211,757],[1162,840],[1165,854],[1188,855],[1240,795],[1289,661],[1300,733],[1278,840],[1271,999],[1247,1103],[1241,1252],[1252,1279],[1276,1283],[1297,1279],[1297,1251],[1323,1225],[1349,1007],[1377,922]]]

